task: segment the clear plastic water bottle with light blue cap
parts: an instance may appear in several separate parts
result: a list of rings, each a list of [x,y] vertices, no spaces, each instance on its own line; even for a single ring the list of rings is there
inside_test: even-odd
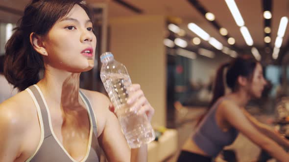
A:
[[[155,133],[147,116],[137,115],[136,112],[129,110],[127,88],[131,85],[131,80],[125,66],[114,60],[110,52],[103,53],[100,61],[102,62],[100,78],[115,107],[127,143],[131,148],[138,148],[142,143],[153,141]]]

